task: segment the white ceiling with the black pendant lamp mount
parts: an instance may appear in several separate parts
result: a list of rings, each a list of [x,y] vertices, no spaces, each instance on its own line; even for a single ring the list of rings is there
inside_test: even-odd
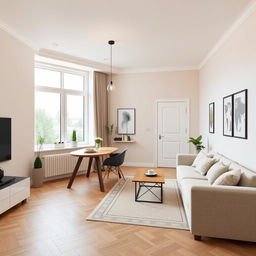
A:
[[[250,0],[0,0],[0,23],[36,49],[121,69],[195,68]]]

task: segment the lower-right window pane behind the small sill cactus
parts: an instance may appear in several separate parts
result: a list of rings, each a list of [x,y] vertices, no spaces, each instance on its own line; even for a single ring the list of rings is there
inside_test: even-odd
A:
[[[72,141],[72,132],[76,130],[77,141],[83,141],[83,96],[67,95],[67,141]]]

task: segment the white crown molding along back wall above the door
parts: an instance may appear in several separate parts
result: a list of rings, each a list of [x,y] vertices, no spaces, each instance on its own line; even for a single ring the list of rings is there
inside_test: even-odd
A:
[[[120,68],[115,72],[118,74],[130,74],[130,73],[154,73],[154,72],[166,72],[166,71],[189,71],[198,70],[197,66],[180,66],[180,67],[153,67],[153,68]]]

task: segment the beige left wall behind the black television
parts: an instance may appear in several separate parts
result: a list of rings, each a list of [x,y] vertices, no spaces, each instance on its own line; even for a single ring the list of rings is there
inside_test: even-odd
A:
[[[28,176],[34,155],[34,52],[0,30],[0,117],[12,118],[12,160],[6,175]]]

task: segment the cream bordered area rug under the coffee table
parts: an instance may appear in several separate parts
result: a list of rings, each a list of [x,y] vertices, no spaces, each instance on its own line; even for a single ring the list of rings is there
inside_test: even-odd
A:
[[[135,202],[134,193],[132,177],[120,180],[87,220],[189,229],[175,179],[165,180],[162,204]],[[143,197],[143,200],[155,200],[152,193],[146,193]]]

